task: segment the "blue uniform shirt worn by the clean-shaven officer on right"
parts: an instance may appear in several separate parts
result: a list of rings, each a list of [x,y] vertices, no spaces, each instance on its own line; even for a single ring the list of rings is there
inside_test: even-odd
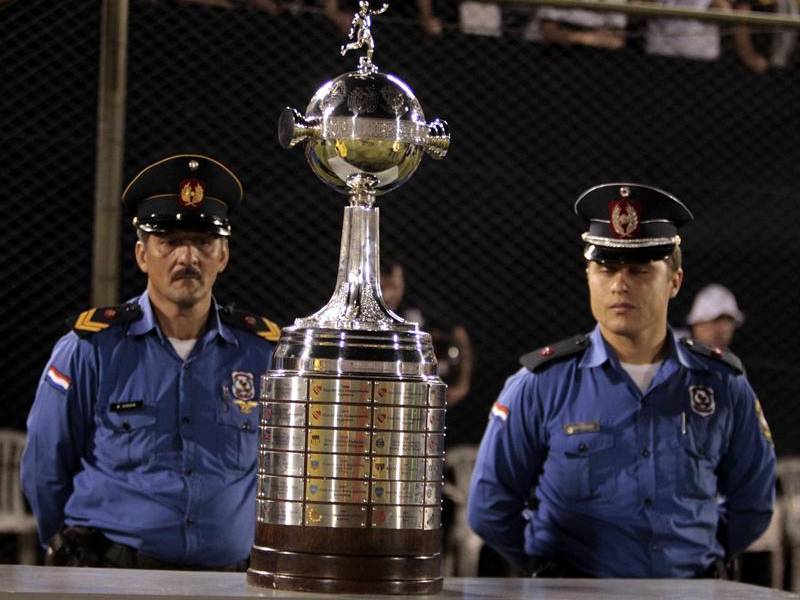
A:
[[[470,484],[487,543],[518,564],[692,577],[766,529],[775,452],[752,388],[672,332],[667,344],[644,394],[599,327],[585,351],[508,379]]]

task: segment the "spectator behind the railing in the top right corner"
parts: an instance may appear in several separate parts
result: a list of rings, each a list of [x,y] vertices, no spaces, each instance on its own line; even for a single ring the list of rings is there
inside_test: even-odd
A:
[[[784,15],[798,15],[796,0],[738,0],[736,10],[752,10]],[[736,52],[742,62],[755,73],[787,67],[797,45],[796,29],[737,25],[733,32]]]

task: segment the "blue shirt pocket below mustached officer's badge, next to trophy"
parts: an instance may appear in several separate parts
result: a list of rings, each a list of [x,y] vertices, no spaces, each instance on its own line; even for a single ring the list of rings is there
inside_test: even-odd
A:
[[[256,404],[243,408],[233,402],[217,402],[216,423],[219,457],[232,470],[250,470],[258,459],[258,416]]]

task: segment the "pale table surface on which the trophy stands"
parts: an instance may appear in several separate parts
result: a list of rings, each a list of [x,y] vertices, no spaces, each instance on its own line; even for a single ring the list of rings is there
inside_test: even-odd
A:
[[[136,571],[0,565],[0,599],[168,600],[191,598],[320,598],[320,594],[251,587],[243,573]],[[364,600],[377,596],[332,594]],[[435,596],[381,596],[438,600],[781,600],[800,595],[715,580],[448,578]]]

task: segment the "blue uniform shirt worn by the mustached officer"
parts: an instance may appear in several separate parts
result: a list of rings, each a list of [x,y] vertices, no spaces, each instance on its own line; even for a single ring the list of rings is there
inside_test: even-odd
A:
[[[62,337],[28,417],[22,484],[47,540],[66,525],[167,562],[245,559],[255,528],[260,376],[273,344],[219,319],[181,360],[142,316]]]

